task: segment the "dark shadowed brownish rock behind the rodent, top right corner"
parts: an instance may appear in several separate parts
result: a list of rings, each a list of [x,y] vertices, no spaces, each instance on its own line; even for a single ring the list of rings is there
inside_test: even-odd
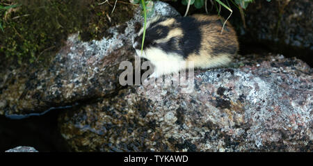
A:
[[[248,31],[257,38],[310,49],[313,44],[312,1],[255,1],[250,5],[246,10]]]

